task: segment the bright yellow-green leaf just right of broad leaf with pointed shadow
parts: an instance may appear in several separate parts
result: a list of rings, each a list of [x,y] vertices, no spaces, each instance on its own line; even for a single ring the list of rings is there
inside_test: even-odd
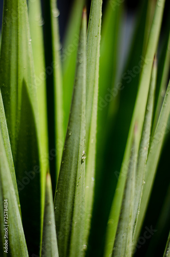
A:
[[[47,101],[46,101],[46,72],[43,44],[43,18],[40,0],[28,1],[29,25],[32,40],[33,61],[35,67],[35,80],[37,89],[37,104],[40,114],[40,157],[41,170],[41,208],[42,225],[45,203],[45,180],[46,172],[49,169],[48,161],[48,132],[47,132]]]

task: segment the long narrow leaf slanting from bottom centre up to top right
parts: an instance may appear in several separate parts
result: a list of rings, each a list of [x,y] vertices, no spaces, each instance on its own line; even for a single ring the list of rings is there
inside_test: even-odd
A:
[[[150,83],[150,76],[152,72],[155,52],[157,50],[160,27],[162,22],[163,8],[164,8],[164,1],[158,1],[157,3],[158,4],[155,9],[152,28],[150,30],[147,49],[146,49],[145,60],[142,67],[141,77],[139,81],[138,95],[137,95],[136,104],[134,108],[133,118],[131,120],[125,154],[124,154],[121,172],[120,172],[120,177],[118,180],[117,189],[116,189],[114,200],[111,207],[110,218],[114,219],[114,223],[108,224],[105,256],[109,256],[112,250],[111,244],[113,244],[115,241],[115,235],[116,235],[116,230],[117,230],[117,225],[118,225],[118,220],[120,215],[125,181],[126,181],[127,163],[130,155],[130,149],[131,149],[132,137],[133,137],[133,128],[134,128],[135,122],[138,122],[138,132],[137,132],[137,139],[136,139],[137,151],[139,148],[147,96],[148,96],[149,83]]]

